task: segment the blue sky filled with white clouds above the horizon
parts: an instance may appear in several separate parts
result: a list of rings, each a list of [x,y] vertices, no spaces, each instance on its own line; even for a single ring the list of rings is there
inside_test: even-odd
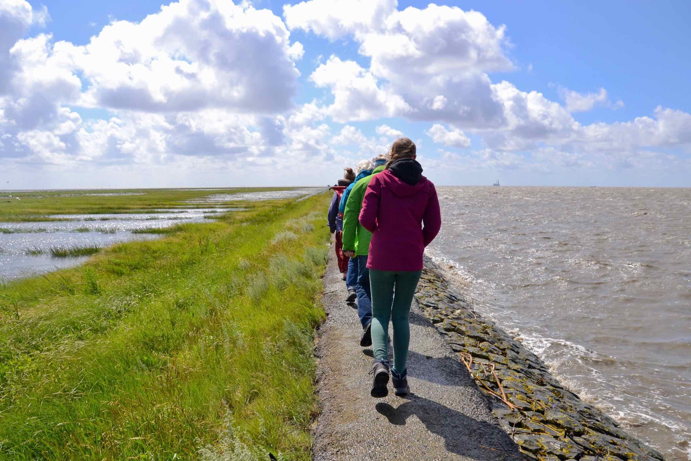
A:
[[[691,2],[0,0],[0,189],[691,187]]]

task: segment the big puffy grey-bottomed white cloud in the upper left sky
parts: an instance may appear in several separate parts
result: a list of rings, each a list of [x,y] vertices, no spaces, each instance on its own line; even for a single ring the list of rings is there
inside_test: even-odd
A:
[[[292,104],[293,60],[304,50],[269,10],[180,0],[140,23],[113,21],[86,46],[58,42],[53,53],[87,82],[83,106],[274,113]]]

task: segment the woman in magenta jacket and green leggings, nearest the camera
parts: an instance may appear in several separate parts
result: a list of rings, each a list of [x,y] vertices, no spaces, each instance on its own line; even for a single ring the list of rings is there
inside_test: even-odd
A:
[[[410,325],[408,314],[422,274],[422,254],[439,233],[442,217],[437,190],[422,176],[415,143],[400,138],[391,146],[386,169],[372,178],[360,211],[360,224],[372,232],[367,267],[372,292],[372,397],[388,395],[388,324],[393,325],[396,395],[406,395]]]

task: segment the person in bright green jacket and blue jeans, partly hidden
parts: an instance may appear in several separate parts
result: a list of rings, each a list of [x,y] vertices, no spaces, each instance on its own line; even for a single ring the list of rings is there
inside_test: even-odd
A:
[[[370,270],[367,268],[367,254],[370,251],[372,232],[360,225],[358,218],[365,191],[375,174],[384,171],[388,156],[381,154],[372,159],[375,169],[370,176],[358,180],[350,191],[343,212],[343,254],[357,258],[357,314],[362,323],[360,346],[372,346],[372,295],[370,293]]]

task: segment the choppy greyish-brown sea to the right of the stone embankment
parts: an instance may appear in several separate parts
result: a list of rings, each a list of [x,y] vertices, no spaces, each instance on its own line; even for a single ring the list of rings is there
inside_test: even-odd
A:
[[[439,187],[428,248],[581,397],[691,459],[691,189]]]

